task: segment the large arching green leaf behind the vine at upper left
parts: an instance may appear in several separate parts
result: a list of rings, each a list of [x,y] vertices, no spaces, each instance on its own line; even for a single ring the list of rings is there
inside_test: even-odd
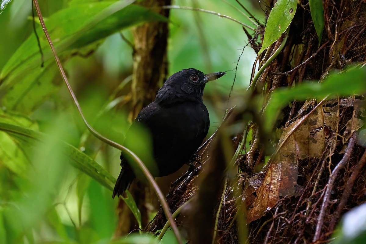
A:
[[[101,1],[73,4],[45,20],[53,45],[61,60],[87,55],[97,48],[96,42],[124,28],[144,22],[167,19],[130,1]],[[31,35],[16,50],[0,73],[3,105],[29,113],[60,87],[61,79],[53,61],[42,27],[37,27],[44,52],[44,67],[36,37]],[[55,78],[56,75],[56,78]]]

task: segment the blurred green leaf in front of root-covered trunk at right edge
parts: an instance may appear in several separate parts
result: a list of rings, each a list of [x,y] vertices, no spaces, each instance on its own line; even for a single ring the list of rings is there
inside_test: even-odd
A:
[[[330,74],[322,83],[303,82],[294,88],[277,88],[270,96],[266,109],[265,129],[270,131],[281,109],[294,100],[304,101],[307,98],[322,99],[338,96],[350,96],[366,92],[366,66],[353,66],[346,71]]]

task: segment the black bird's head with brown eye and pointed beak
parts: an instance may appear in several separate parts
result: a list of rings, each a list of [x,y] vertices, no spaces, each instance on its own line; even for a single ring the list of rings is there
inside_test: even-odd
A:
[[[225,75],[225,72],[203,74],[194,68],[184,69],[171,75],[156,95],[155,101],[164,102],[198,100],[202,101],[203,89],[207,82]]]

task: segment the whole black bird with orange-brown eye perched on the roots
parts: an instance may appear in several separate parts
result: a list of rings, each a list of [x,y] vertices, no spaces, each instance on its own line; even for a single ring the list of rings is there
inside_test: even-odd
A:
[[[225,74],[205,75],[193,68],[179,71],[164,83],[155,101],[139,112],[127,132],[124,146],[142,159],[154,177],[176,172],[201,145],[210,124],[202,101],[203,89],[207,82]],[[122,169],[113,198],[123,195],[135,179],[135,173],[141,174],[133,162],[128,164],[131,161],[126,155],[121,153],[120,159]]]

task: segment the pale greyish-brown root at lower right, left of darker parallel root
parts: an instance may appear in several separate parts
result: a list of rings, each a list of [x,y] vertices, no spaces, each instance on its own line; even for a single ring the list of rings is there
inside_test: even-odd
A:
[[[317,228],[315,230],[315,235],[313,237],[313,242],[316,242],[320,238],[321,229],[324,224],[325,211],[328,208],[329,199],[330,199],[330,195],[332,195],[331,192],[333,190],[333,186],[336,182],[336,179],[338,177],[340,170],[342,170],[344,168],[344,166],[347,164],[348,160],[351,157],[353,147],[355,145],[356,135],[357,134],[354,132],[351,139],[348,142],[348,146],[346,148],[346,151],[344,152],[343,158],[341,159],[341,161],[339,161],[337,166],[333,169],[332,175],[329,176],[328,184],[327,184],[326,191],[325,191],[324,198],[323,198],[323,203],[322,203],[320,213],[318,216],[318,224],[317,224]]]

